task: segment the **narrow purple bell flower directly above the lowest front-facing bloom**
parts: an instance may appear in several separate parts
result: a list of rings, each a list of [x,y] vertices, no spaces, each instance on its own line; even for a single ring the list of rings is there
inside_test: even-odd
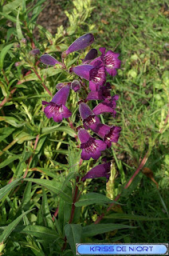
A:
[[[84,102],[79,105],[79,112],[81,114],[85,129],[95,131],[97,125],[100,124],[100,118],[98,118]]]

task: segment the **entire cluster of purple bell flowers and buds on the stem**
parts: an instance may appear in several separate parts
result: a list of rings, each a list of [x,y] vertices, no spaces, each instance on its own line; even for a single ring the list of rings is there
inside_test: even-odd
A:
[[[65,58],[75,51],[84,50],[93,41],[94,37],[92,34],[84,34],[80,38],[77,38],[61,54],[61,62],[49,54],[43,54],[40,61],[47,66],[58,64],[62,69],[67,70]],[[71,66],[69,73],[73,74],[73,76],[77,75],[78,78],[75,78],[72,82],[61,82],[57,84],[58,91],[51,102],[42,102],[43,105],[47,105],[44,110],[46,117],[53,118],[54,122],[61,122],[63,118],[69,118],[72,115],[71,111],[65,106],[70,90],[74,90],[82,95],[81,101],[79,102],[79,113],[83,126],[78,127],[77,136],[81,141],[81,158],[84,160],[100,158],[101,151],[109,148],[112,142],[118,142],[121,130],[120,126],[102,124],[99,118],[99,115],[104,113],[110,113],[113,117],[116,116],[116,101],[119,96],[111,96],[111,85],[106,82],[106,78],[107,74],[111,76],[116,75],[116,70],[120,68],[121,63],[119,59],[120,54],[116,54],[112,50],[106,52],[106,49],[103,47],[99,50],[100,56],[98,56],[96,49],[89,50],[85,58],[81,60],[81,65]],[[86,86],[84,79],[88,81],[88,86]],[[81,90],[87,91],[87,95],[81,94]],[[92,110],[87,104],[91,100],[100,101]],[[92,137],[88,134],[88,130],[92,130],[100,139]],[[86,178],[109,177],[108,170],[110,165],[108,163],[96,167],[92,168],[92,173],[89,171],[82,178],[82,181],[85,181]]]

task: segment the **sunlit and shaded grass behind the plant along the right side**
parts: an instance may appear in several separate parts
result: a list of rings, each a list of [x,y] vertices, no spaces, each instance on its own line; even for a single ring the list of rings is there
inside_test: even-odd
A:
[[[116,187],[133,173],[149,149],[147,177],[138,179],[132,194],[122,200],[123,211],[149,217],[168,216],[169,154],[167,118],[169,96],[168,8],[163,1],[96,1],[91,23],[96,24],[96,44],[120,53],[121,70],[109,80],[120,95],[118,115],[122,135],[116,154]],[[145,172],[146,170],[144,170]],[[159,184],[159,190],[153,182]],[[151,179],[150,179],[151,178]],[[134,189],[134,188],[133,188]],[[167,242],[168,222],[136,222],[124,242]],[[164,228],[162,228],[164,227]],[[111,237],[111,235],[110,235]]]

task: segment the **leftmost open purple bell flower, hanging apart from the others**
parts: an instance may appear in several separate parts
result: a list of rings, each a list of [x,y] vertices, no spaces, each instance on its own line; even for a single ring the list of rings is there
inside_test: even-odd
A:
[[[53,118],[54,122],[61,122],[63,118],[69,118],[72,113],[65,106],[69,96],[70,86],[65,86],[57,91],[51,102],[42,102],[45,107],[45,115],[47,118]]]

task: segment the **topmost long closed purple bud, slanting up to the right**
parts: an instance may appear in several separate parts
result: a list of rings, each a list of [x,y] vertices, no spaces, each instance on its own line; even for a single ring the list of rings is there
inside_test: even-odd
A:
[[[90,46],[94,41],[93,34],[84,34],[80,38],[77,38],[65,52],[62,54],[62,58],[65,58],[68,54],[73,53],[76,50],[83,50],[86,47]]]

